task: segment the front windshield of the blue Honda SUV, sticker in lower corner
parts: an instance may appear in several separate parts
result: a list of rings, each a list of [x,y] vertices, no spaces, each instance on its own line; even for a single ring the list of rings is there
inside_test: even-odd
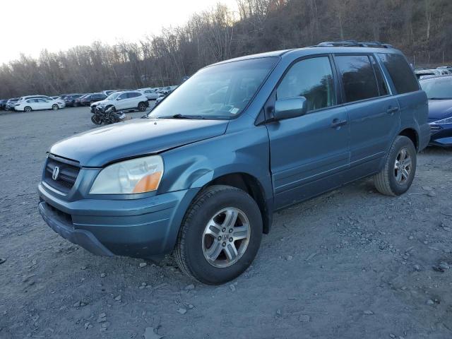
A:
[[[236,117],[254,97],[277,61],[276,57],[268,57],[201,69],[155,107],[148,117]]]

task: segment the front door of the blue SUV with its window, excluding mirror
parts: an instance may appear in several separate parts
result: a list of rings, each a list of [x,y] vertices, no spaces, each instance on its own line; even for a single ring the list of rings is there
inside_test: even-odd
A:
[[[350,124],[337,93],[328,55],[297,61],[280,81],[275,100],[304,96],[308,112],[267,124],[276,208],[343,182],[341,173],[349,165]]]

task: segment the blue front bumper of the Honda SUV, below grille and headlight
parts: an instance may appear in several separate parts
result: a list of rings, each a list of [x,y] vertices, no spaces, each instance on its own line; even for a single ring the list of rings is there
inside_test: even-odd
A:
[[[148,258],[174,248],[198,189],[141,199],[64,201],[40,184],[39,210],[55,232],[97,255]]]

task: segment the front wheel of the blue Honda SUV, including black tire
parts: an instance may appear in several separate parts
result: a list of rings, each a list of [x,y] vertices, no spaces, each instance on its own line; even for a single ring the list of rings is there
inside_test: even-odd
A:
[[[237,213],[237,221],[227,226],[226,216],[232,212]],[[208,227],[214,219],[218,228]],[[261,211],[249,194],[232,186],[210,186],[201,191],[189,206],[179,230],[174,258],[182,272],[201,283],[227,283],[241,275],[254,260],[261,244],[262,230]],[[232,240],[234,234],[242,239]],[[230,250],[231,244],[236,251]],[[227,251],[230,256],[227,256]],[[210,252],[218,252],[218,258],[215,254],[209,257]],[[233,253],[237,256],[230,260]]]

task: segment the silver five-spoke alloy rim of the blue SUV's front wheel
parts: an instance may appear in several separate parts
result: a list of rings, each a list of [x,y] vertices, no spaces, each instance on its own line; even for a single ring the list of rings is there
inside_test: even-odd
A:
[[[251,228],[245,213],[225,208],[213,216],[203,232],[203,254],[210,265],[223,268],[237,263],[249,244]]]

